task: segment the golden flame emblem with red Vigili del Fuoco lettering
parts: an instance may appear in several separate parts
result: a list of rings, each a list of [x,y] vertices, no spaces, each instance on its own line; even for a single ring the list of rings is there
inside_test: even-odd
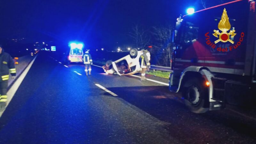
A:
[[[223,13],[222,13],[222,16],[221,16],[221,20],[220,20],[220,22],[218,24],[218,28],[221,30],[221,33],[219,32],[219,30],[213,30],[214,33],[212,35],[217,37],[217,38],[219,38],[216,41],[214,41],[214,43],[212,43],[210,41],[209,32],[207,32],[205,34],[205,36],[206,36],[206,44],[207,45],[209,45],[213,49],[215,49],[216,48],[216,44],[219,43],[219,42],[222,42],[222,43],[230,42],[231,44],[235,43],[230,38],[233,38],[234,36],[236,36],[236,33],[235,33],[236,30],[230,30],[228,32],[228,30],[231,28],[231,25],[229,23],[228,14],[227,14],[227,11],[226,11],[225,8],[223,10]],[[219,51],[219,52],[228,52],[228,49],[229,49],[229,51],[232,51],[232,49],[236,49],[239,45],[241,45],[241,42],[243,40],[244,40],[244,33],[242,32],[239,41],[235,45],[231,45],[228,48],[227,47],[226,48],[218,47],[217,51]]]

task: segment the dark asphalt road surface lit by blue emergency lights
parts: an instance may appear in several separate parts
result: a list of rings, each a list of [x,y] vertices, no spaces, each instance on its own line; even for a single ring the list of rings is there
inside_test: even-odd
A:
[[[95,66],[85,76],[83,65],[65,67],[40,52],[0,118],[0,143],[253,144],[254,112],[194,114],[165,85]]]

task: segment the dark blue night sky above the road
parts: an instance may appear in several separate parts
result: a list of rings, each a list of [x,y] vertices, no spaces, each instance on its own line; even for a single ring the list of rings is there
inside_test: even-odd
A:
[[[173,24],[200,0],[0,0],[0,37],[27,42],[72,40],[90,48],[132,43],[135,24],[144,29]]]

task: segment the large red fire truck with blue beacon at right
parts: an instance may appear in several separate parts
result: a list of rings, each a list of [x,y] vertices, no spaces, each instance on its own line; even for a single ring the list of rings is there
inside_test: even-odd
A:
[[[194,113],[256,104],[255,0],[180,16],[173,33],[169,90]]]

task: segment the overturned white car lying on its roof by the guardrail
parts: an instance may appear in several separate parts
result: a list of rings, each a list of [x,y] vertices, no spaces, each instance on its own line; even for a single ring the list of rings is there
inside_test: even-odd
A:
[[[116,61],[108,60],[105,66],[102,66],[107,74],[133,75],[139,73],[142,69],[140,66],[140,56],[143,50],[131,49],[130,54]],[[150,53],[146,53],[148,60],[150,60]]]

